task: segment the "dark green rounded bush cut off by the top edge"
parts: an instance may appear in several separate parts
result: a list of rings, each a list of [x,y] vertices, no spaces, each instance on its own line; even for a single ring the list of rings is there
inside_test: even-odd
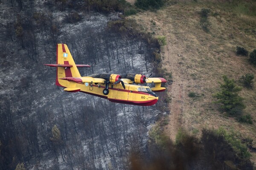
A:
[[[134,3],[135,6],[141,9],[158,9],[163,6],[163,0],[136,0]]]

